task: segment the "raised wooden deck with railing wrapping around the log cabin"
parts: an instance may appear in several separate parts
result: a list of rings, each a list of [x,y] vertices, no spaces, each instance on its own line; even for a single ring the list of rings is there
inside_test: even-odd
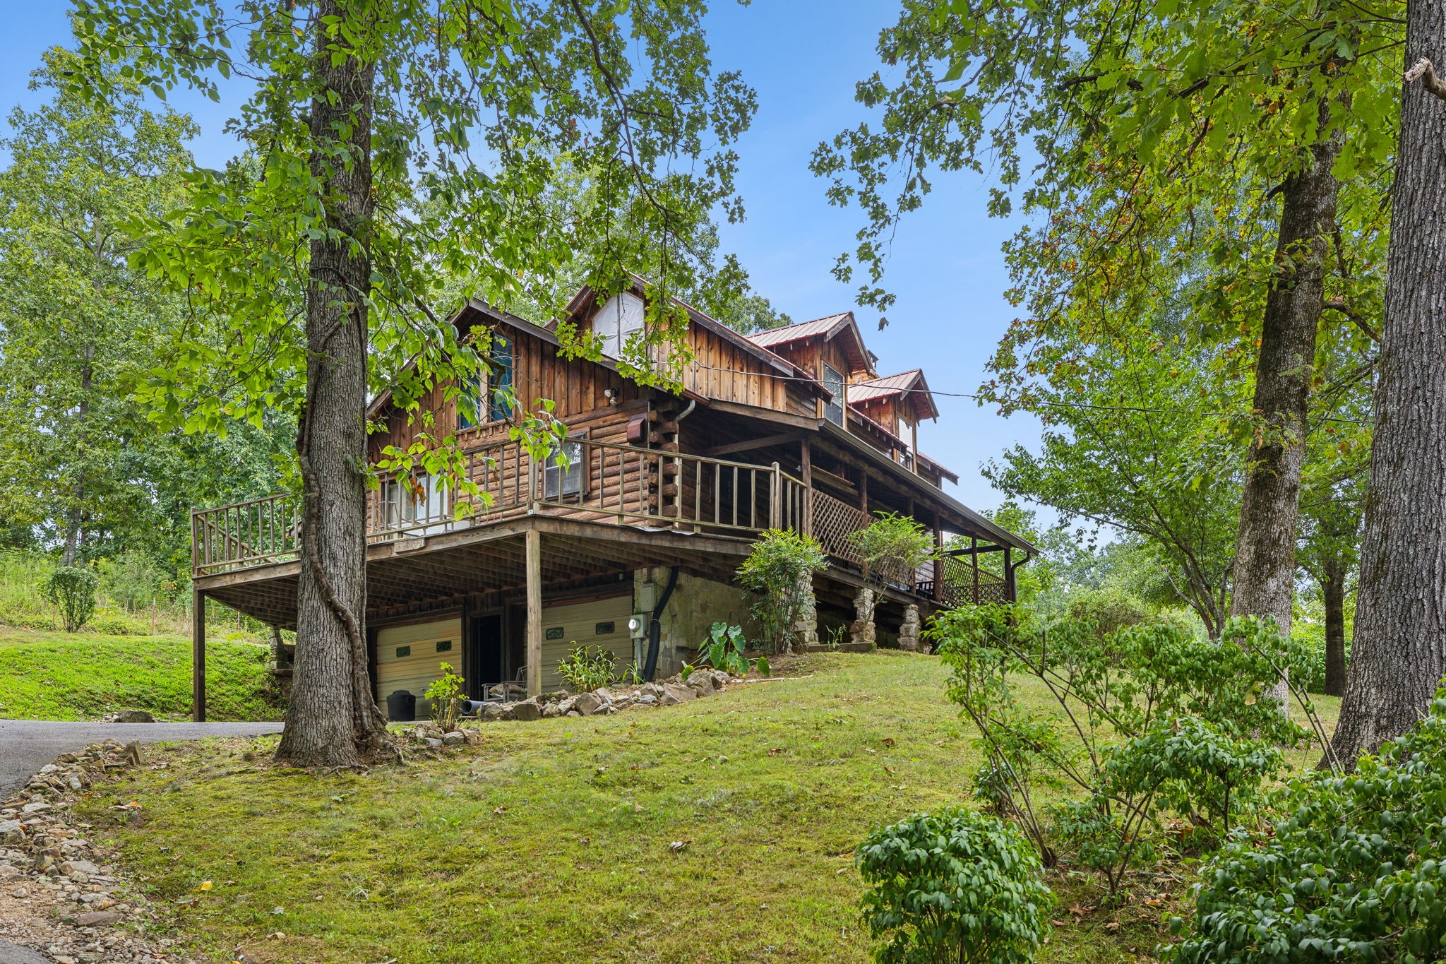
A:
[[[521,442],[466,452],[471,483],[466,491],[431,480],[377,478],[367,497],[369,598],[386,608],[448,587],[521,585],[522,536],[531,529],[558,549],[545,565],[548,582],[672,559],[717,569],[716,578],[729,581],[765,529],[813,535],[830,555],[831,580],[840,587],[860,581],[849,536],[869,523],[869,515],[804,486],[777,462],[589,439],[568,445],[568,458],[536,458]],[[298,497],[200,509],[191,532],[198,590],[257,619],[291,623],[299,572]],[[1002,601],[1005,581],[973,565],[980,552],[998,548],[976,542],[972,551],[898,574],[889,590],[934,606]]]

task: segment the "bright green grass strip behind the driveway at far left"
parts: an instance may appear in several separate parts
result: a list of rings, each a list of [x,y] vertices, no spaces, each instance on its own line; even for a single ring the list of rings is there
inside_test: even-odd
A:
[[[213,720],[279,720],[269,650],[244,642],[205,647]],[[191,639],[106,636],[0,626],[0,717],[98,720],[111,710],[191,717]]]

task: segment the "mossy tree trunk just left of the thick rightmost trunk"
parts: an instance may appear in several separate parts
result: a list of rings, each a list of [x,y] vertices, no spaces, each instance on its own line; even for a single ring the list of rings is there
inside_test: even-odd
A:
[[[1320,110],[1325,114],[1327,107]],[[1296,588],[1306,409],[1340,188],[1330,169],[1339,153],[1339,137],[1316,143],[1309,165],[1281,188],[1277,275],[1265,295],[1255,364],[1254,409],[1261,425],[1251,439],[1241,496],[1231,616],[1274,617],[1283,633],[1290,633]],[[1271,695],[1288,707],[1284,679]]]

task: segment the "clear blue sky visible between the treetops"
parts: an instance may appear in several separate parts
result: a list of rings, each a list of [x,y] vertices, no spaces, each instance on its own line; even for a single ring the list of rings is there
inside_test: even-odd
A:
[[[40,52],[69,42],[68,4],[10,4],[0,36],[0,106],[33,104],[26,90]],[[855,81],[878,64],[873,45],[897,6],[881,0],[755,0],[742,7],[714,0],[709,38],[716,69],[740,69],[758,91],[758,117],[739,153],[743,224],[726,225],[723,243],[749,269],[753,286],[797,321],[855,308],[853,286],[830,273],[852,247],[855,210],[833,208],[824,182],[808,172],[820,140],[856,124]],[[197,160],[220,166],[236,150],[221,127],[227,104],[178,92],[172,104],[201,124]],[[973,392],[999,334],[1015,309],[1004,299],[1008,275],[1001,254],[1018,221],[985,217],[988,181],[937,178],[934,194],[899,230],[886,285],[898,293],[889,327],[859,309],[869,347],[884,373],[923,367],[936,392]],[[1002,449],[1040,436],[1028,416],[1004,419],[970,399],[940,397],[938,422],[920,428],[920,448],[959,473],[954,494],[976,509],[1001,500],[979,465]]]

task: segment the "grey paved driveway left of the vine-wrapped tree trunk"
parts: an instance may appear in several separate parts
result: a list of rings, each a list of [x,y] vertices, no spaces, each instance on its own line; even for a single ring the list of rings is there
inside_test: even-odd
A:
[[[52,723],[0,720],[0,793],[23,786],[32,773],[61,753],[116,737],[124,743],[162,743],[204,737],[281,733],[279,723]]]

